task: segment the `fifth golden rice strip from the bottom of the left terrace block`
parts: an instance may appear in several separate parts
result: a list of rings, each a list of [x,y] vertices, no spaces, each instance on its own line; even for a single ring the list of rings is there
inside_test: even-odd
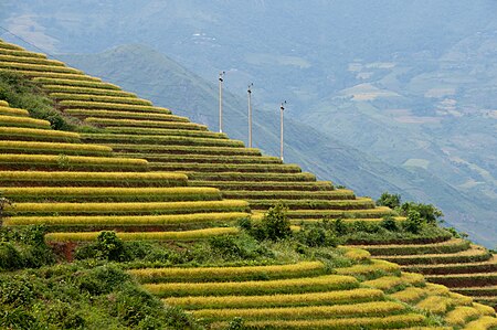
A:
[[[0,142],[1,143],[1,142]],[[77,145],[76,145],[77,146]],[[18,182],[18,184],[15,183]],[[0,185],[187,185],[188,177],[170,172],[36,172],[0,171]]]

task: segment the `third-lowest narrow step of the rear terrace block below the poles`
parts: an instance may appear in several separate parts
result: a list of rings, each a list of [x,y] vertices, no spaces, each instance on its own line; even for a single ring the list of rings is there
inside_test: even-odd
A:
[[[274,190],[274,191],[244,191],[226,190],[222,192],[225,199],[244,199],[247,201],[272,198],[274,200],[355,200],[353,191],[346,189],[328,191],[299,191],[299,190]]]

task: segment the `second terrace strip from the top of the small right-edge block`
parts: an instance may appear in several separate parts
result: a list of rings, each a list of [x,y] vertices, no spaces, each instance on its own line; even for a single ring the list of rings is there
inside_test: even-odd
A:
[[[430,244],[388,244],[388,245],[357,245],[364,248],[371,255],[422,255],[422,254],[448,254],[466,251],[469,242],[461,238],[452,238],[441,243]]]

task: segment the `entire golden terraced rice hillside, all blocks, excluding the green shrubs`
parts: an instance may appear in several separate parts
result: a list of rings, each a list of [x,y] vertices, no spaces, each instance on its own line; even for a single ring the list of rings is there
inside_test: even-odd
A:
[[[31,77],[65,116],[99,128],[52,130],[50,123],[0,102],[0,191],[14,202],[4,225],[46,224],[50,242],[95,239],[102,230],[116,230],[123,239],[192,241],[235,235],[231,225],[250,216],[248,207],[263,212],[276,201],[289,206],[293,223],[381,221],[391,214],[42,54],[0,41],[0,70]],[[462,239],[435,241],[359,246],[400,266],[369,260],[356,249],[350,255],[362,262],[337,269],[310,262],[130,273],[166,304],[191,310],[213,328],[234,316],[255,328],[430,328],[426,315],[440,316],[447,327],[496,327],[488,307],[401,273],[425,274],[495,305],[495,257]]]

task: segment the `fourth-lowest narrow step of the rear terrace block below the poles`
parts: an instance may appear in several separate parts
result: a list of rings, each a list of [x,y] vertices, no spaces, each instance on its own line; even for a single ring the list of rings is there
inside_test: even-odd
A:
[[[310,182],[282,182],[282,181],[201,181],[190,180],[192,187],[214,187],[221,189],[223,193],[237,191],[262,192],[265,191],[299,191],[303,193],[311,192],[329,192],[334,190],[332,183],[329,181],[310,181]]]

